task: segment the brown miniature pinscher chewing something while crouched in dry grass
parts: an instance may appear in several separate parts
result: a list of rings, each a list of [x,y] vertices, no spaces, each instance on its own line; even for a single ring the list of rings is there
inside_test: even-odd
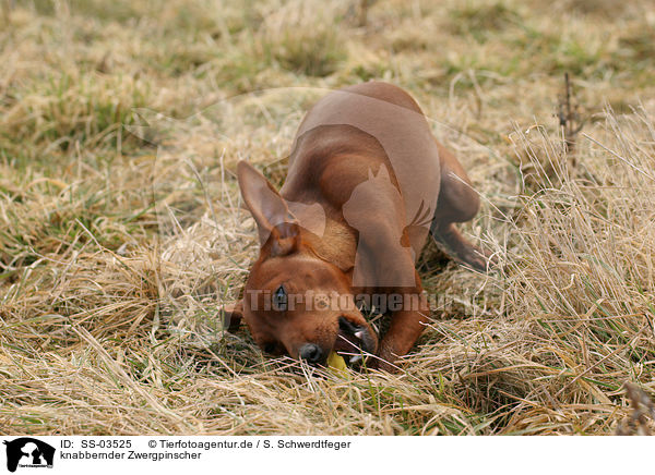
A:
[[[261,252],[226,316],[233,329],[243,317],[267,353],[312,364],[331,351],[350,362],[377,355],[368,366],[392,370],[429,321],[415,269],[428,233],[455,259],[486,267],[453,224],[477,214],[478,195],[396,86],[369,82],[321,99],[279,193],[245,161],[238,179]],[[356,301],[391,314],[379,344]]]

